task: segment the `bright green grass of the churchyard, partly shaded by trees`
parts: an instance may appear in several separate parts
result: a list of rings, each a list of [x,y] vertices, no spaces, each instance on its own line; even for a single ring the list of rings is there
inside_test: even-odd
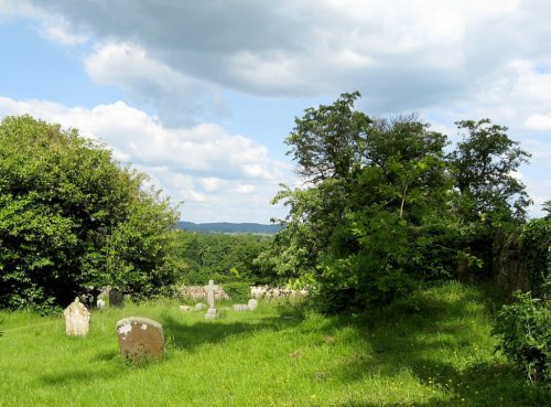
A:
[[[0,312],[0,406],[551,405],[494,354],[489,307],[458,283],[368,319],[261,303],[206,321],[149,302],[93,311],[86,338],[65,336],[62,318]],[[164,361],[118,355],[115,324],[131,315],[163,324]]]

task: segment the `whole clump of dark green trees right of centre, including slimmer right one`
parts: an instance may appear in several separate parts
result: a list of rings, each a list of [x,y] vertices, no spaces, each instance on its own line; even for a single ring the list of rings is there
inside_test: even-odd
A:
[[[505,127],[460,121],[468,137],[446,154],[447,137],[417,116],[375,119],[354,109],[358,97],[295,119],[287,143],[304,183],[273,200],[289,215],[272,267],[333,311],[490,267],[496,229],[521,222],[529,202],[511,176],[528,154]]]

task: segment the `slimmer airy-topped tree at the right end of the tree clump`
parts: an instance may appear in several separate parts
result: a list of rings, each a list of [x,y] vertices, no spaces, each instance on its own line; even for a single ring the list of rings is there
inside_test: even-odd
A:
[[[499,235],[514,229],[520,233],[526,221],[531,201],[515,174],[530,154],[509,138],[507,127],[489,119],[462,120],[456,126],[464,131],[463,140],[451,153],[450,163],[458,191],[455,207],[462,218],[460,245],[466,258],[477,260],[476,268],[464,268],[483,278],[495,272]]]

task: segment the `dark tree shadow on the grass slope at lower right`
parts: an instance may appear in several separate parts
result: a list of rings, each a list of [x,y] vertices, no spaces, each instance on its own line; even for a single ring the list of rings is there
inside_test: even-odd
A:
[[[477,357],[473,344],[483,334],[467,321],[478,318],[480,311],[490,313],[493,310],[488,307],[493,306],[474,289],[447,299],[418,297],[399,303],[357,324],[356,328],[364,331],[366,349],[372,352],[348,360],[335,372],[335,377],[350,383],[374,372],[390,378],[410,372],[428,390],[437,389],[440,394],[424,404],[415,401],[417,407],[551,406],[549,388],[527,384],[522,374],[505,362],[491,358],[488,362],[487,347],[486,361]],[[454,355],[463,361],[447,363]],[[396,403],[359,401],[345,406],[386,407]]]

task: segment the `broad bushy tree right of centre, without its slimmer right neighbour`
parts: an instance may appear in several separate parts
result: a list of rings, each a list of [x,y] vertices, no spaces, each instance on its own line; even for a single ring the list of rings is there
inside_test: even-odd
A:
[[[433,248],[450,239],[441,216],[451,188],[446,137],[414,116],[371,119],[354,110],[357,97],[295,119],[287,143],[305,183],[274,199],[289,206],[274,267],[310,285],[331,311],[386,303],[453,257]]]

